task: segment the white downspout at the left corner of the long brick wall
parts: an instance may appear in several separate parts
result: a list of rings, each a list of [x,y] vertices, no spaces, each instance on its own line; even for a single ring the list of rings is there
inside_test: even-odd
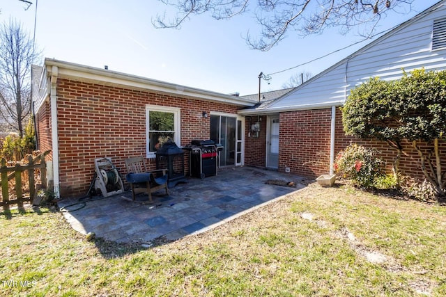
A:
[[[54,175],[54,198],[60,199],[60,180],[59,180],[59,139],[57,131],[57,76],[58,68],[57,66],[52,66],[51,71],[51,90],[50,90],[50,100],[51,100],[51,131],[52,131],[52,150],[53,150],[53,175]]]

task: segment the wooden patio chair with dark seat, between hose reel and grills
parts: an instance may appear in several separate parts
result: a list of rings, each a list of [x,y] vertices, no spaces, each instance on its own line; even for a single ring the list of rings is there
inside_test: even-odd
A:
[[[138,193],[147,193],[148,201],[152,203],[152,193],[162,188],[166,189],[166,195],[169,195],[167,186],[167,169],[147,171],[146,162],[142,156],[134,156],[125,160],[127,175],[125,179],[132,188],[132,202],[138,202],[135,195]]]

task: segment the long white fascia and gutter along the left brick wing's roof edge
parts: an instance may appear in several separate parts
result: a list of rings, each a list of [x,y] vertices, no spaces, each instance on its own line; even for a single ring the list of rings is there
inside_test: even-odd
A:
[[[138,90],[155,90],[163,93],[170,93],[179,96],[194,97],[212,102],[233,104],[237,106],[254,106],[255,101],[235,97],[209,90],[199,88],[191,88],[180,86],[165,81],[157,81],[155,79],[147,79],[132,74],[125,74],[112,70],[105,70],[96,67],[89,67],[75,63],[57,61],[53,59],[45,59],[47,71],[51,72],[52,66],[59,67],[59,77],[72,78],[79,81],[101,83],[106,86],[119,86],[123,88],[134,88]]]

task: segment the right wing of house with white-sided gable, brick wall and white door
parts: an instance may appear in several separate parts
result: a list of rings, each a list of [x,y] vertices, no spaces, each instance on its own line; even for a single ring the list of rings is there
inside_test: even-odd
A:
[[[394,80],[402,69],[446,70],[445,4],[439,1],[278,99],[238,111],[261,127],[259,137],[245,141],[245,154],[260,155],[250,165],[317,177],[332,171],[337,152],[353,141],[380,150],[390,169],[394,150],[345,136],[340,108],[350,90],[370,77]],[[402,173],[424,178],[417,152],[410,143],[403,150]]]

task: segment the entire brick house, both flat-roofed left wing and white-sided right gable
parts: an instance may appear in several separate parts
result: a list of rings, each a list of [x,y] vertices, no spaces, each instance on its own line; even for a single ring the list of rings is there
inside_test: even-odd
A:
[[[340,107],[369,77],[399,79],[401,68],[445,70],[445,3],[439,1],[293,90],[263,94],[260,103],[259,95],[224,95],[45,59],[32,71],[33,112],[38,148],[52,150],[56,197],[85,194],[95,158],[110,157],[124,168],[125,158],[142,155],[155,168],[151,135],[157,131],[149,125],[155,113],[171,116],[169,133],[178,145],[209,138],[222,143],[220,166],[317,177],[332,171],[335,154],[351,141],[376,147],[391,164],[395,153],[386,143],[345,136]],[[402,172],[422,177],[415,151],[408,143],[403,149]]]

